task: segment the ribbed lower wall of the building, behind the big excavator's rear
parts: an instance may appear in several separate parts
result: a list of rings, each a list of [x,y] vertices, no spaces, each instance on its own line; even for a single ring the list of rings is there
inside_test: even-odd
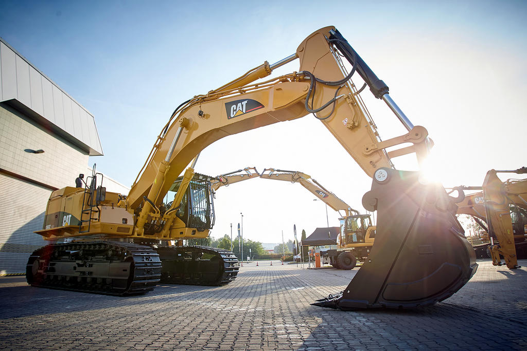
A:
[[[0,275],[25,273],[27,258],[47,243],[41,230],[51,190],[0,173]]]

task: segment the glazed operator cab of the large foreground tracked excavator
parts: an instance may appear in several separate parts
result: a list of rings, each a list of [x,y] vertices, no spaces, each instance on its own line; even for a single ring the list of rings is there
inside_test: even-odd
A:
[[[190,180],[175,214],[186,224],[187,228],[196,228],[202,232],[212,229],[214,225],[211,179],[209,176],[196,173]],[[170,190],[178,192],[182,181],[183,177],[177,178]]]

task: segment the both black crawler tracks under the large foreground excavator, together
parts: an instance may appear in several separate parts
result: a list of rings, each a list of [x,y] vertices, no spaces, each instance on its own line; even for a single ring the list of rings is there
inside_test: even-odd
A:
[[[158,283],[226,285],[238,269],[232,252],[208,246],[72,242],[35,250],[26,279],[38,287],[126,296],[147,293]]]

